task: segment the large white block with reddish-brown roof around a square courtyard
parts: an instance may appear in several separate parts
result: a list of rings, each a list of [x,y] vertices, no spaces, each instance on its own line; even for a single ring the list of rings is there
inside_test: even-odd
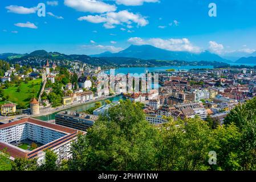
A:
[[[34,118],[25,118],[19,121],[0,125],[0,150],[6,148],[10,159],[27,158],[37,159],[42,164],[45,159],[45,150],[50,149],[58,156],[58,161],[71,158],[71,142],[77,138],[78,130],[40,121]],[[34,142],[40,147],[30,150],[19,148],[21,144]]]

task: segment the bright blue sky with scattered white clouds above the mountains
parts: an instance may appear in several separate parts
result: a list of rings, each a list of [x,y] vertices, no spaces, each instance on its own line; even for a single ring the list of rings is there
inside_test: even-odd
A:
[[[217,17],[208,15],[216,3]],[[46,16],[38,16],[38,3]],[[256,50],[254,0],[10,0],[0,2],[0,53],[117,52],[131,44],[244,56]]]

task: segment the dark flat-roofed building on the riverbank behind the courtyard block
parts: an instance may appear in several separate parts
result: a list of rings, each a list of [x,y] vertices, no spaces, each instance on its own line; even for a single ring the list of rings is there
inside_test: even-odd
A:
[[[86,131],[99,117],[92,114],[62,111],[55,116],[55,123],[72,129]]]

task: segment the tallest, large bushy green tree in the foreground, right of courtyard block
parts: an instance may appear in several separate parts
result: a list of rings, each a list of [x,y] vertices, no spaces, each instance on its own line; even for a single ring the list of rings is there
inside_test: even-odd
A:
[[[145,121],[141,108],[131,101],[109,108],[73,146],[77,169],[149,170],[155,165],[156,129]],[[82,144],[81,144],[82,143]],[[80,148],[83,146],[83,148]],[[75,148],[74,148],[75,147]]]

